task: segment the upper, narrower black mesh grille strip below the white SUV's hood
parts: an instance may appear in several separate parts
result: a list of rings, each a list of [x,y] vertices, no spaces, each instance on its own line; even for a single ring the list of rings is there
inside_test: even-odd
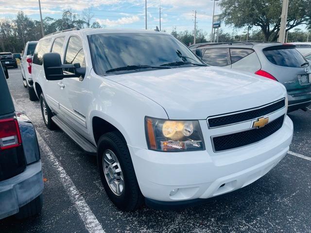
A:
[[[260,116],[271,114],[283,107],[285,107],[285,99],[279,100],[275,103],[265,105],[253,110],[250,109],[247,112],[208,118],[208,126],[209,128],[214,128],[239,123],[242,121],[252,120]]]

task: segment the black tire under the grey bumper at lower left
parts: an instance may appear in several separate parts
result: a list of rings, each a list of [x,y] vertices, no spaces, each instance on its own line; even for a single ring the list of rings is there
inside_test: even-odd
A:
[[[24,219],[41,213],[43,205],[43,194],[40,194],[28,204],[19,208],[19,212],[15,215],[17,219]]]

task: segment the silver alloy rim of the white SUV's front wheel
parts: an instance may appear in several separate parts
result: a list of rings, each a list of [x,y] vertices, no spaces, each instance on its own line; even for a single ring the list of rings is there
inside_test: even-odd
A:
[[[124,190],[124,177],[119,160],[112,150],[105,150],[103,155],[104,176],[111,191],[120,196]]]

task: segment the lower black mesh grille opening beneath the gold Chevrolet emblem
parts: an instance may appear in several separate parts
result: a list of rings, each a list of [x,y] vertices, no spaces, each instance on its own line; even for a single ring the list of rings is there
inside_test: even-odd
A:
[[[284,121],[284,115],[276,118],[266,126],[259,129],[250,129],[238,133],[226,134],[223,136],[212,137],[212,144],[215,152],[223,150],[231,150],[239,147],[244,147],[276,133]]]

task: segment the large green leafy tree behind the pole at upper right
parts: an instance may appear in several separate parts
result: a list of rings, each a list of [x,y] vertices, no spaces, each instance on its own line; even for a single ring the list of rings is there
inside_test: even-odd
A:
[[[222,0],[222,18],[237,28],[259,27],[266,41],[275,41],[280,30],[282,0]],[[302,24],[311,28],[311,0],[290,0],[287,29]]]

